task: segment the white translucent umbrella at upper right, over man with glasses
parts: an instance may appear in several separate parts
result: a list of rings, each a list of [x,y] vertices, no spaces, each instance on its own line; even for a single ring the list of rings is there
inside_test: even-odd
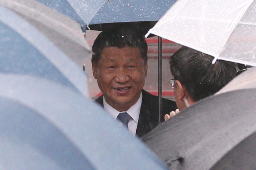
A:
[[[217,59],[256,66],[256,0],[178,0],[151,28]]]

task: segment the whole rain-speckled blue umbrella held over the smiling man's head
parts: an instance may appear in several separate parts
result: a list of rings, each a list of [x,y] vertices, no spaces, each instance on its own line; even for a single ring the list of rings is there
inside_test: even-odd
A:
[[[117,22],[158,21],[177,0],[37,0],[86,25],[102,30]],[[151,28],[155,22],[146,25]],[[139,25],[141,26],[141,25]],[[105,25],[104,25],[105,27]],[[107,28],[109,28],[107,26]],[[146,29],[147,31],[149,28]],[[85,31],[85,30],[84,30]],[[146,31],[146,32],[147,32]],[[146,33],[145,32],[145,33]]]

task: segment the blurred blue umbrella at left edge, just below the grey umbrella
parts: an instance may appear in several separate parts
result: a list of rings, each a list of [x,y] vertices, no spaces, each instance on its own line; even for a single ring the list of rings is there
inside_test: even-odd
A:
[[[3,6],[0,27],[0,73],[37,76],[88,95],[82,69],[44,34]]]

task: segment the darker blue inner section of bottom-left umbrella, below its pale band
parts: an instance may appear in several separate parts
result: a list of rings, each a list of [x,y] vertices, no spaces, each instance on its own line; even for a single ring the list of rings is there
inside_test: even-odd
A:
[[[94,169],[73,142],[40,112],[6,97],[0,97],[0,103],[2,169]]]

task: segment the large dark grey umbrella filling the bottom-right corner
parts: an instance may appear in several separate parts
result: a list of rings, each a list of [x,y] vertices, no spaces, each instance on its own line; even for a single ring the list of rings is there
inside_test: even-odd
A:
[[[233,169],[226,167],[231,162],[255,169],[256,150],[247,148],[255,142],[255,93],[240,89],[198,101],[142,139],[171,169]]]

